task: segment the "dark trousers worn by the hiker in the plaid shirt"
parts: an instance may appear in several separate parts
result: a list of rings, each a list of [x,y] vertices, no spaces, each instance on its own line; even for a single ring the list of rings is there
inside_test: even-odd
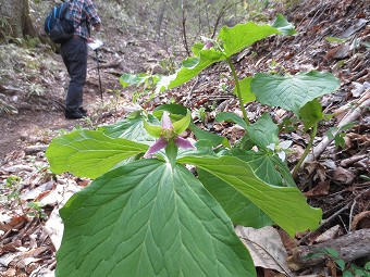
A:
[[[87,45],[83,38],[72,38],[61,46],[61,54],[70,74],[65,109],[77,110],[83,105],[83,89],[86,84]]]

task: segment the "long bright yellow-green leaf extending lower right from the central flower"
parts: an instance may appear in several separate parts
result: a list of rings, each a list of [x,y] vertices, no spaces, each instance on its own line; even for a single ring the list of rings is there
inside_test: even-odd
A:
[[[178,162],[193,164],[227,182],[291,236],[314,230],[321,221],[321,210],[309,206],[297,188],[268,185],[256,176],[248,163],[237,158],[185,156]]]

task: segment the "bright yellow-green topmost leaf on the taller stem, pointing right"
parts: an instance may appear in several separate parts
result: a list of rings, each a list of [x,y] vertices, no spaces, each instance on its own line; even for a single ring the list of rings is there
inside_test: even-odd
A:
[[[219,37],[223,41],[225,55],[231,56],[263,38],[278,34],[281,32],[270,25],[260,26],[254,22],[247,22],[231,28],[222,27]]]

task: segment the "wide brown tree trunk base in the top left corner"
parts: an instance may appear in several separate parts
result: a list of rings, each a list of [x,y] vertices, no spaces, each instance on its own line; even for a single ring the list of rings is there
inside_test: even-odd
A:
[[[0,0],[0,38],[21,38],[38,34],[29,16],[28,0]]]

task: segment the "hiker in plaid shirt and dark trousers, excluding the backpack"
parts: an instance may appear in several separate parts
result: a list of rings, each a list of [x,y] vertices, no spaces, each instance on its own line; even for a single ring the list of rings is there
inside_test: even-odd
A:
[[[90,25],[98,32],[101,21],[92,0],[71,0],[70,10],[76,29],[72,39],[61,43],[61,55],[70,75],[65,118],[77,119],[87,116],[83,108],[83,89],[87,74],[87,42],[92,41]]]

